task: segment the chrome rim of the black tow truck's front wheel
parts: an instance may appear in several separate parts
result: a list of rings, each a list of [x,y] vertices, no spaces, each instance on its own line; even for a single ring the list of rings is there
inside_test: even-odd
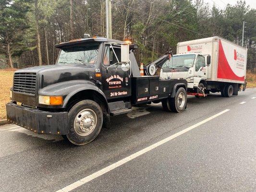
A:
[[[74,131],[79,136],[91,134],[97,125],[97,115],[92,109],[81,110],[74,119]]]

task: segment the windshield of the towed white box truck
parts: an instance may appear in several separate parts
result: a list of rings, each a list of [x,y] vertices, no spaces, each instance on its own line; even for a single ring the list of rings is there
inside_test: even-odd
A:
[[[175,67],[192,67],[195,60],[195,54],[191,55],[175,55],[170,60],[165,61],[162,68],[175,68]]]

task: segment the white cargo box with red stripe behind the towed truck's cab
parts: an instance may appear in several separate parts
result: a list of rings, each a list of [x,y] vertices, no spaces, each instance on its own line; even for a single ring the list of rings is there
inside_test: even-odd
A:
[[[244,83],[247,49],[219,36],[185,41],[177,44],[177,54],[210,55],[207,81]]]

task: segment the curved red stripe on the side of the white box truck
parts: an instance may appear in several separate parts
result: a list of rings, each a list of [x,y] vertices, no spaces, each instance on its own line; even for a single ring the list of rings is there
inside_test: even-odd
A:
[[[219,59],[218,59],[217,78],[244,81],[244,76],[239,77],[232,71],[229,65],[229,62],[225,56],[224,49],[220,39],[219,39]]]

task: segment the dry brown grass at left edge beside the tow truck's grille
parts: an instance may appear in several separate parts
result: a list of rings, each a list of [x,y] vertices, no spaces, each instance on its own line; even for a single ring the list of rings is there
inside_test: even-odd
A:
[[[13,73],[13,70],[0,70],[0,120],[6,119],[5,104],[10,101]]]

